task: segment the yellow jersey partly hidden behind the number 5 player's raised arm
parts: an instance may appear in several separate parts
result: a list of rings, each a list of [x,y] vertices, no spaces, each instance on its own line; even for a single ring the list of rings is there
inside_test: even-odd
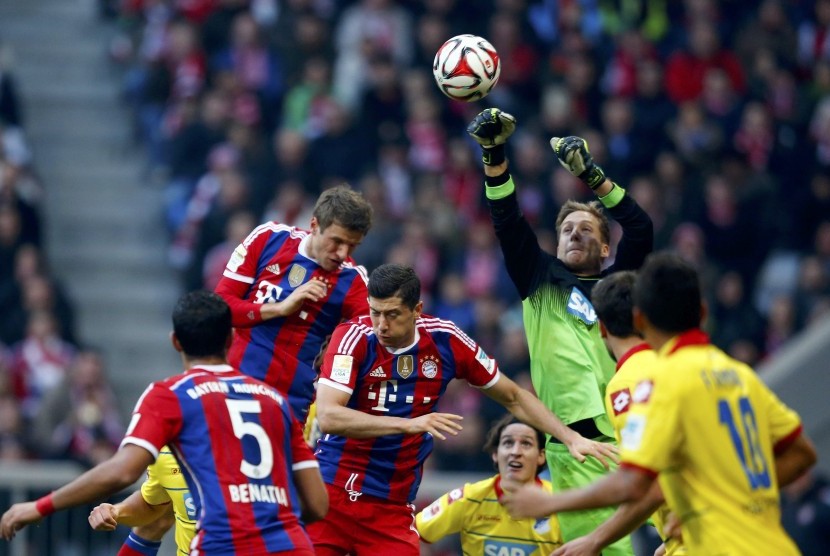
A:
[[[141,497],[151,506],[173,503],[176,516],[176,552],[190,553],[190,541],[196,536],[196,504],[187,488],[179,462],[165,446],[156,461],[147,467],[147,480],[141,485]]]

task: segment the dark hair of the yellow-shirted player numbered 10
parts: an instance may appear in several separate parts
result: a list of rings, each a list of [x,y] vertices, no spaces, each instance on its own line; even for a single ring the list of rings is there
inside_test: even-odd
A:
[[[634,305],[655,327],[678,334],[700,326],[700,280],[674,253],[652,253],[638,273]]]

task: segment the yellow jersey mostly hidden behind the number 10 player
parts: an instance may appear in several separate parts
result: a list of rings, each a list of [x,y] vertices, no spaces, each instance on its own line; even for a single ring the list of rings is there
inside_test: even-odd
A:
[[[628,410],[631,408],[631,394],[637,384],[652,377],[656,361],[657,354],[646,343],[634,346],[617,361],[617,371],[608,382],[605,391],[605,411],[614,426],[618,443]],[[683,543],[675,538],[666,539],[663,534],[670,512],[669,507],[663,504],[651,516],[651,521],[660,538],[666,543],[666,556],[684,556],[687,552]]]

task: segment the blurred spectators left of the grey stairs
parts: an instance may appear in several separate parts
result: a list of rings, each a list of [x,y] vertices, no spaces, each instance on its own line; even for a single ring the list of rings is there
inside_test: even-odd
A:
[[[26,138],[8,47],[0,45],[0,461],[107,459],[124,434],[104,357],[77,337],[50,270],[45,194]]]

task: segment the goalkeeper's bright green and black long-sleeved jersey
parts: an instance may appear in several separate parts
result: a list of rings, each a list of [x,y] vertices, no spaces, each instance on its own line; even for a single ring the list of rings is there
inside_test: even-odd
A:
[[[493,185],[494,182],[502,183]],[[541,249],[519,209],[514,185],[489,178],[487,197],[507,271],[522,299],[530,372],[539,399],[581,434],[614,437],[605,415],[605,389],[614,361],[600,337],[590,293],[603,276],[636,270],[653,245],[651,219],[619,186],[601,198],[621,225],[615,262],[600,275],[577,277]],[[598,432],[597,432],[598,431]]]

